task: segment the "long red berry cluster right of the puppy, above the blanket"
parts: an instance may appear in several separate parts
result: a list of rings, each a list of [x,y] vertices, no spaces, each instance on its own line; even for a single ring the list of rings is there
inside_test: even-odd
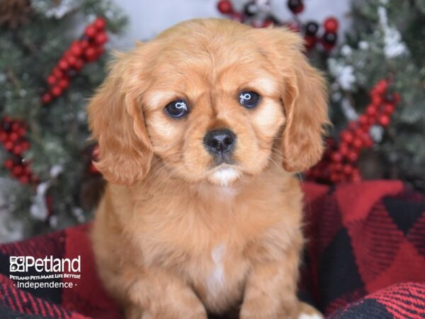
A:
[[[373,87],[370,91],[370,104],[365,113],[341,131],[339,144],[334,140],[328,141],[327,152],[322,160],[307,172],[308,179],[327,183],[361,180],[361,172],[356,162],[362,149],[373,146],[370,128],[373,125],[389,125],[390,116],[400,99],[397,93],[387,93],[389,84],[390,82],[383,79]]]

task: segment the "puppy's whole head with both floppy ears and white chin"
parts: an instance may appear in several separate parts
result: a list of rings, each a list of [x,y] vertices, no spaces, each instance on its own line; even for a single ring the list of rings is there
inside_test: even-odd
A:
[[[89,106],[106,179],[143,179],[152,158],[187,181],[226,185],[273,160],[322,155],[324,82],[294,33],[196,20],[118,57]]]

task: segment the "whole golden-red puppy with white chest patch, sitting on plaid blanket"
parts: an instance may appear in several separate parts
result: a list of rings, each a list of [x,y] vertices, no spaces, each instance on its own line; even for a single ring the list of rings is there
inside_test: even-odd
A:
[[[108,180],[92,240],[126,318],[319,318],[297,300],[324,80],[298,35],[187,21],[118,55],[89,105]],[[321,318],[321,317],[320,317]]]

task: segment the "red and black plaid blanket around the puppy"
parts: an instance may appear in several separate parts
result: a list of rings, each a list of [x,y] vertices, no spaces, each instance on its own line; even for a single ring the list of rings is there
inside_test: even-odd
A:
[[[399,181],[305,183],[304,190],[301,298],[332,319],[425,318],[425,196]],[[0,318],[122,318],[96,276],[88,230],[79,225],[0,245]],[[10,257],[21,256],[81,256],[79,278],[63,269],[55,276],[34,267],[16,272]],[[28,286],[39,281],[53,287]]]

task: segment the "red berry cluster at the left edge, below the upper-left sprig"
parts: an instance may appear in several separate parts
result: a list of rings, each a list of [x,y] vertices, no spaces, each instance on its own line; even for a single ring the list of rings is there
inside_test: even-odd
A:
[[[22,121],[12,120],[8,116],[1,119],[0,141],[12,155],[4,162],[4,167],[10,170],[12,176],[21,181],[22,184],[37,182],[29,163],[22,157],[23,152],[30,148],[30,142],[26,139],[26,132],[26,125]]]

